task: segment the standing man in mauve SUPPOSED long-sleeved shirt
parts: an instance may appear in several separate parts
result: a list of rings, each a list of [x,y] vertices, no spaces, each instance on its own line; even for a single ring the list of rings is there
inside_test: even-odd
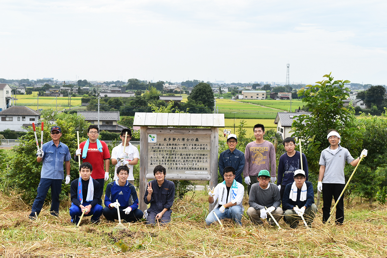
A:
[[[248,185],[247,193],[250,194],[251,185],[258,183],[259,171],[266,169],[270,171],[271,182],[276,181],[276,150],[271,142],[264,140],[265,126],[257,124],[254,126],[255,141],[246,145],[245,169],[243,177]]]

